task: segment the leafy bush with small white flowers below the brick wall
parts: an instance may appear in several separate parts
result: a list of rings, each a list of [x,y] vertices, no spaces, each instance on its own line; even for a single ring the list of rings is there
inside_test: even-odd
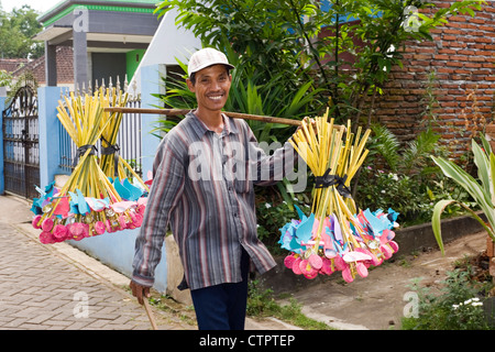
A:
[[[472,206],[470,196],[442,174],[430,155],[446,156],[439,134],[428,127],[418,136],[402,145],[386,127],[372,125],[370,150],[361,170],[355,199],[362,209],[393,208],[400,213],[402,226],[427,222],[435,202],[457,199]],[[461,215],[458,205],[449,206],[449,215]]]

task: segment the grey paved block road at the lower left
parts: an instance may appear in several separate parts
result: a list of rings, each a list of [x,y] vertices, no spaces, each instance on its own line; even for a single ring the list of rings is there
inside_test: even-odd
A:
[[[0,329],[150,329],[143,308],[0,224]]]

